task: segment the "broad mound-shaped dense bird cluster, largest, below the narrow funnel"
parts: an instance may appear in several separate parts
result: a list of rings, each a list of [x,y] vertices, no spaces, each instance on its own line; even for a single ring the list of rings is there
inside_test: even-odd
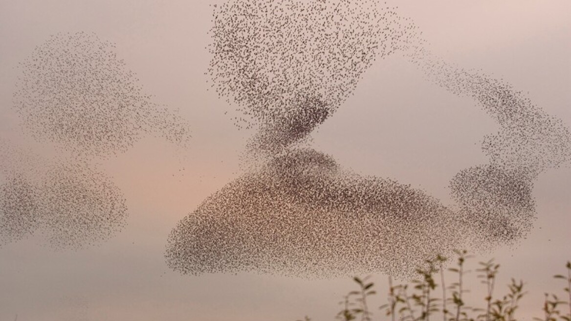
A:
[[[300,149],[205,200],[172,231],[166,257],[187,274],[403,275],[461,238],[454,213],[423,191]]]

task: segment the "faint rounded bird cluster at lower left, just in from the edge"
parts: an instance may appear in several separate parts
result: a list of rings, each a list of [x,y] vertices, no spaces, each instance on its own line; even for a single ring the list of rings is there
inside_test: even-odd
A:
[[[43,230],[57,248],[94,245],[115,235],[127,218],[126,200],[102,172],[83,164],[57,164],[41,184]]]

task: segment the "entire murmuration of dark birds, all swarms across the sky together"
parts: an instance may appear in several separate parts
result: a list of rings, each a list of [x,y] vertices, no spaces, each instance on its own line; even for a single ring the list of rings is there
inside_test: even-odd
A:
[[[514,244],[533,226],[533,184],[571,162],[571,134],[509,83],[448,63],[419,28],[379,0],[226,0],[213,5],[211,87],[255,129],[251,164],[205,199],[167,239],[183,274],[258,272],[329,277],[407,276],[459,246]],[[311,147],[373,63],[399,54],[425,78],[492,117],[488,163],[449,183],[453,204],[392,179],[357,174]],[[115,45],[62,33],[21,62],[14,110],[26,134],[71,157],[42,158],[0,140],[0,246],[43,234],[79,248],[122,230],[126,200],[96,162],[146,135],[180,148],[190,126],[145,94]]]

